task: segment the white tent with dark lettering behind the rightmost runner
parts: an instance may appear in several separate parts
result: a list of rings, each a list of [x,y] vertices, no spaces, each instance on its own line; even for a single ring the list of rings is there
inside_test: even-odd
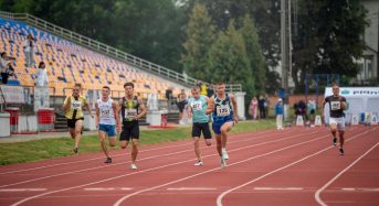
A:
[[[352,116],[359,119],[362,113],[378,117],[379,113],[379,87],[340,87],[339,95],[346,98],[348,108],[345,110],[346,122],[351,121]],[[333,95],[331,87],[325,88],[325,97]],[[325,122],[329,122],[329,105],[325,106]]]

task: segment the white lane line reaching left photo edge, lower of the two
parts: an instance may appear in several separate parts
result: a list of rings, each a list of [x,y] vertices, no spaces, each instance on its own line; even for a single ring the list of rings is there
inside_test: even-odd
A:
[[[264,138],[264,137],[266,137],[266,135],[261,135],[261,137],[255,138],[255,139],[261,139],[261,138]],[[248,140],[244,139],[244,140],[241,140],[241,141],[234,141],[234,142],[230,142],[230,144],[239,143],[239,142],[245,142],[245,141],[250,141],[250,140],[252,140],[252,139],[248,139]],[[145,160],[150,160],[150,159],[156,159],[156,158],[161,158],[161,156],[175,155],[175,154],[186,153],[186,152],[189,152],[189,151],[193,151],[193,149],[181,150],[179,152],[172,152],[172,153],[167,153],[167,154],[159,154],[159,155],[143,158],[143,159],[139,159],[138,161],[145,161]],[[48,176],[42,176],[42,177],[36,177],[36,178],[30,178],[28,181],[21,181],[21,182],[17,182],[17,183],[7,184],[7,185],[0,185],[0,188],[8,187],[8,186],[20,185],[20,184],[25,184],[25,183],[31,183],[31,182],[46,180],[46,178],[52,178],[52,177],[56,177],[56,176],[63,176],[63,175],[67,175],[67,174],[74,174],[74,173],[86,172],[86,171],[91,171],[91,170],[97,170],[97,169],[104,169],[104,167],[109,167],[109,166],[116,166],[116,165],[120,165],[120,164],[125,164],[125,163],[129,163],[129,162],[130,161],[125,161],[125,162],[120,162],[120,163],[113,163],[110,165],[102,165],[102,166],[95,166],[95,167],[83,169],[83,170],[77,170],[77,171],[70,171],[70,172],[65,172],[65,173],[59,173],[59,174],[53,174],[53,175],[48,175]]]

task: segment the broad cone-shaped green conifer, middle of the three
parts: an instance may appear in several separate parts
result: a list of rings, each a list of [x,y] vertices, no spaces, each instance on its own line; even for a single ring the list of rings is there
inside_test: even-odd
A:
[[[233,20],[225,32],[218,33],[217,41],[209,52],[208,63],[208,74],[212,74],[208,79],[212,83],[242,84],[248,99],[255,94],[245,43],[242,34],[235,30]]]

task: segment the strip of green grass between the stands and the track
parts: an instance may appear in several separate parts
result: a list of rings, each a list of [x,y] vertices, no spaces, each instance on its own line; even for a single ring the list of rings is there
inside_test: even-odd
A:
[[[231,133],[241,133],[274,128],[273,120],[238,123]],[[140,144],[158,144],[168,141],[190,139],[191,127],[165,130],[140,131]],[[42,139],[27,142],[0,143],[0,165],[32,162],[43,159],[72,155],[74,141],[71,138]],[[118,150],[118,147],[116,147]],[[80,153],[101,152],[96,135],[83,137]]]

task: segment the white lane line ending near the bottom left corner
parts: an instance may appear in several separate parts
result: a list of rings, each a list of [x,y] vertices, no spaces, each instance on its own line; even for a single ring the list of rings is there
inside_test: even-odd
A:
[[[317,132],[317,131],[315,131],[315,132]],[[310,132],[310,133],[315,133],[315,132]],[[267,141],[267,142],[263,142],[263,143],[257,143],[257,144],[252,144],[252,145],[248,145],[248,147],[242,147],[242,148],[239,148],[239,149],[230,150],[229,153],[231,153],[233,151],[240,151],[240,150],[244,150],[244,149],[249,149],[249,148],[259,147],[259,145],[270,144],[270,143],[273,143],[273,142],[280,142],[280,141],[284,141],[284,140],[289,140],[289,139],[297,138],[299,135],[302,135],[302,134],[295,134],[295,135],[292,135],[292,138],[286,137],[286,138],[282,138],[282,139],[277,139],[277,140],[273,140],[273,141]],[[326,137],[326,135],[324,135],[324,137]],[[322,137],[322,138],[324,138],[324,137]],[[318,139],[320,139],[320,138],[318,138]],[[317,140],[317,139],[315,139],[315,140]],[[310,140],[310,141],[315,141],[315,140]],[[215,155],[218,155],[218,154],[209,154],[209,155],[204,155],[203,158],[215,156]],[[77,185],[77,186],[72,186],[72,187],[66,187],[66,188],[62,188],[62,189],[57,189],[57,191],[51,191],[51,192],[48,192],[48,193],[42,193],[42,194],[39,194],[39,195],[34,195],[34,196],[31,196],[31,197],[23,198],[23,199],[17,202],[17,203],[12,204],[12,206],[17,206],[17,205],[20,205],[20,204],[25,203],[28,200],[31,200],[31,199],[34,199],[34,198],[39,198],[39,197],[42,197],[42,196],[45,196],[45,195],[50,195],[50,194],[54,194],[54,193],[60,193],[60,192],[64,192],[64,191],[70,191],[70,189],[74,189],[74,188],[81,188],[81,187],[85,187],[85,186],[90,186],[90,185],[94,185],[94,184],[99,184],[99,183],[104,183],[104,182],[108,182],[108,181],[114,181],[114,180],[117,180],[117,178],[123,178],[123,177],[135,175],[135,174],[139,174],[139,173],[155,171],[155,170],[158,170],[158,169],[173,166],[173,165],[178,165],[178,164],[182,164],[182,163],[193,162],[196,160],[197,159],[191,159],[191,160],[187,160],[187,161],[180,161],[180,162],[177,162],[177,163],[165,164],[165,165],[161,165],[161,166],[157,166],[157,167],[152,167],[152,169],[147,169],[147,170],[143,170],[143,171],[138,171],[138,172],[134,172],[134,173],[129,173],[129,174],[124,174],[124,175],[119,175],[119,176],[114,176],[114,177],[105,178],[105,180],[102,180],[102,181],[91,182],[91,183],[87,183],[87,184],[82,184],[82,185]]]

